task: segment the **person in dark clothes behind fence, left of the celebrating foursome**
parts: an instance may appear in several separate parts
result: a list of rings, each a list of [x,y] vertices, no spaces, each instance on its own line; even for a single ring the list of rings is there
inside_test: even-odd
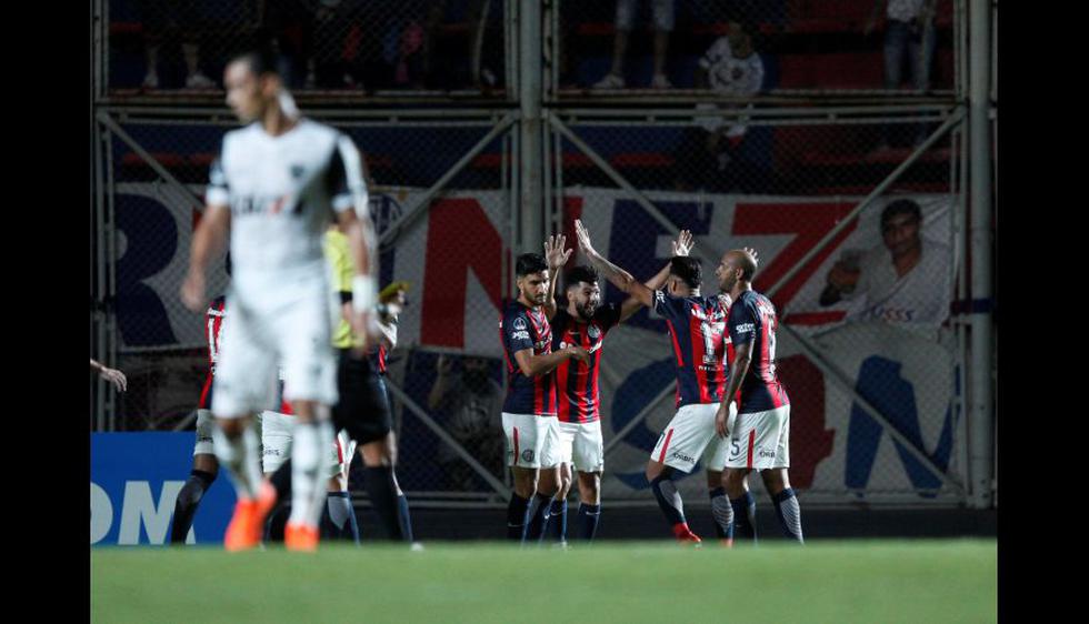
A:
[[[450,374],[452,369],[453,363],[446,355],[439,355],[438,378],[428,395],[428,407],[442,412],[450,435],[488,472],[501,477],[503,390],[491,379],[486,358],[466,356],[458,378]],[[449,445],[439,447],[438,461],[451,490],[471,492],[478,489],[473,470]]]

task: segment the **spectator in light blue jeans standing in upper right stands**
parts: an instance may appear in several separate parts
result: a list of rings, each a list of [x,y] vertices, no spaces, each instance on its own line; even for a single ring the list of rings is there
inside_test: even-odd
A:
[[[903,58],[907,53],[911,78],[918,91],[930,88],[930,61],[933,57],[933,14],[937,0],[876,0],[873,13],[863,32],[877,27],[882,6],[885,23],[885,88],[899,89],[902,82]]]

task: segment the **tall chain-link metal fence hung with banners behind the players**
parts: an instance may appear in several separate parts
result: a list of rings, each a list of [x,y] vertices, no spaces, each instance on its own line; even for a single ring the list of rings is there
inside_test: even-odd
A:
[[[207,366],[202,320],[181,306],[177,293],[208,167],[234,122],[219,104],[198,105],[200,89],[186,89],[182,48],[172,78],[163,70],[157,87],[173,99],[147,100],[151,90],[132,84],[143,71],[133,60],[139,54],[132,57],[132,41],[128,51],[122,43],[136,29],[117,26],[132,20],[142,32],[147,24],[124,4],[113,0],[108,7],[91,298],[92,349],[130,381],[123,395],[93,389],[91,426],[186,429]],[[277,29],[318,29],[324,19],[321,27],[336,33],[306,34],[311,46],[298,50],[309,52],[298,52],[289,70],[296,90],[313,89],[311,100],[299,99],[303,110],[348,132],[366,154],[381,282],[412,284],[389,372],[402,487],[433,504],[506,501],[499,426],[504,375],[494,322],[501,300],[513,294],[511,259],[539,250],[540,242],[530,240],[538,232],[566,232],[573,244],[573,219],[581,218],[598,249],[641,279],[668,260],[669,239],[682,228],[697,235],[708,289],[717,288],[712,272],[723,251],[759,250],[756,288],[771,296],[783,321],[778,355],[793,405],[791,480],[808,501],[966,502],[979,484],[971,474],[978,469],[969,469],[978,453],[967,431],[971,308],[965,302],[972,291],[966,109],[957,97],[965,88],[963,3],[937,2],[926,93],[906,83],[886,91],[895,98],[876,99],[871,90],[887,85],[880,28],[888,20],[879,17],[872,33],[860,33],[869,2],[676,2],[668,88],[650,84],[653,2],[635,4],[635,22],[642,26],[629,29],[623,84],[597,85],[612,63],[616,6],[541,3],[542,107],[540,125],[531,127],[540,128],[539,135],[526,132],[534,109],[516,105],[507,89],[526,85],[520,64],[533,67],[519,41],[524,4],[344,1],[307,9],[269,2],[263,22],[247,17],[253,13],[244,3],[201,9],[219,11],[220,19],[220,30],[201,33],[202,58],[218,59],[201,61],[210,78],[229,50],[248,41],[239,24],[257,23],[253,37],[266,37]],[[140,7],[163,6],[178,4]],[[304,9],[317,12],[307,19],[291,13]],[[380,63],[387,78],[400,71],[389,67],[392,42],[416,41],[419,29],[441,31],[431,29],[443,20],[470,24],[447,30],[450,40],[441,46],[449,48],[434,44],[447,50],[438,56],[450,64],[432,66],[432,73],[448,83],[433,82],[428,72],[422,83],[370,78]],[[368,28],[344,64],[337,50],[357,37],[351,33],[360,23]],[[282,43],[289,36],[278,37],[291,59]],[[755,71],[751,56],[747,64],[723,56],[721,38],[731,53],[749,46],[758,54],[763,78],[757,88],[742,84],[755,83],[746,73]],[[322,58],[336,61],[326,68],[328,81],[311,82],[307,59]],[[702,58],[709,60],[701,76]],[[344,68],[358,78],[354,85],[338,82]],[[467,84],[498,99],[462,108],[457,90]],[[444,93],[439,105],[382,108],[383,89],[420,94],[432,88]],[[853,99],[833,92],[843,89],[855,90]],[[362,99],[338,99],[328,90]],[[206,94],[219,99],[222,92],[211,87]],[[527,168],[536,161],[539,170]],[[532,178],[541,182],[540,197],[527,192]],[[832,273],[858,278],[887,258],[891,243],[881,213],[896,200],[911,200],[922,217],[923,256],[898,282],[906,290],[859,289],[829,301]],[[571,262],[580,261],[576,254]],[[209,289],[226,283],[226,274],[216,272]],[[620,296],[611,286],[606,295]],[[603,493],[612,503],[650,500],[642,466],[673,412],[667,341],[662,322],[641,312],[606,345]],[[680,486],[702,501],[703,480],[693,475]]]

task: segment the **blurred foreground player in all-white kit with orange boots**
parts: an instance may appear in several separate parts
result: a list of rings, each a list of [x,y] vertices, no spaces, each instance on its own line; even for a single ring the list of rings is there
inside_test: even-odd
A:
[[[223,137],[181,289],[186,305],[199,311],[207,301],[206,268],[229,233],[230,329],[217,368],[212,413],[216,454],[231,474],[238,503],[223,542],[229,551],[256,546],[276,502],[274,490],[261,487],[259,440],[250,414],[272,405],[277,365],[282,364],[283,392],[298,419],[284,545],[312,551],[326,497],[321,457],[333,439],[329,405],[337,402],[321,250],[333,212],[351,241],[358,271],[354,324],[368,340],[377,335],[377,260],[361,158],[348,137],[298,115],[270,53],[232,59],[223,82],[227,103],[248,125]]]

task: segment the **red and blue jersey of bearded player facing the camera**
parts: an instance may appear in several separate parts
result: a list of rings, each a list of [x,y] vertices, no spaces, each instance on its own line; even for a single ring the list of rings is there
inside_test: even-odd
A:
[[[552,348],[581,346],[590,352],[590,362],[565,360],[556,368],[557,416],[563,423],[592,423],[601,419],[601,393],[598,372],[601,370],[601,344],[605,334],[620,322],[620,305],[609,303],[598,308],[593,318],[579,322],[561,309],[552,316]]]

